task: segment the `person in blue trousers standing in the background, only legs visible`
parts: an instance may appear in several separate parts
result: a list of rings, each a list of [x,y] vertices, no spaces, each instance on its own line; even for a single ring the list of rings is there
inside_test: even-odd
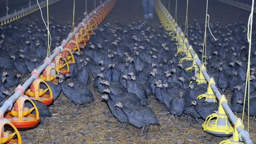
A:
[[[153,18],[154,0],[142,0],[144,18]]]

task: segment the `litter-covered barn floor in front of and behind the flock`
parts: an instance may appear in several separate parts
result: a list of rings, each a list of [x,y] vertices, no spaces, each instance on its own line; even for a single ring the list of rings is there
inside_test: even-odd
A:
[[[200,0],[201,1],[201,0]],[[181,1],[183,2],[183,1]],[[63,0],[57,4],[50,6],[53,17],[56,18],[60,23],[67,23],[72,20],[72,10],[60,11],[55,9],[57,5],[59,8],[67,9],[72,4],[72,1]],[[76,20],[83,17],[84,13],[84,1],[77,1],[76,7]],[[110,15],[105,19],[104,23],[114,24],[115,21],[120,21],[123,24],[129,24],[130,21],[143,20],[141,1],[132,0],[125,1],[120,0],[117,2],[116,7],[110,12]],[[192,3],[192,2],[191,2]],[[210,1],[210,4],[214,3]],[[133,5],[133,7],[127,7],[127,5]],[[219,3],[222,4],[222,3]],[[91,5],[92,4],[88,4]],[[181,5],[181,4],[180,4]],[[184,8],[184,5],[180,6]],[[191,4],[191,11],[196,8],[196,5]],[[227,7],[228,11],[223,14],[223,9]],[[174,8],[174,7],[172,7]],[[213,12],[213,9],[209,10]],[[196,18],[199,21],[204,21],[205,9],[199,9],[199,15],[191,15],[189,18],[192,21]],[[236,9],[228,5],[222,4],[222,7],[215,8],[215,16],[212,18],[212,23],[221,21],[220,24],[235,23],[235,21],[243,21],[246,23],[247,18],[241,15],[248,15],[247,11]],[[61,13],[61,14],[60,14]],[[216,15],[223,14],[219,20],[216,20]],[[183,12],[180,13],[180,18],[184,18]],[[231,15],[238,15],[232,17]],[[240,15],[240,17],[239,17]],[[124,19],[124,16],[126,17]],[[29,15],[21,19],[21,23],[34,20],[35,18],[40,19],[39,12]],[[182,24],[184,21],[179,21]],[[152,27],[158,27],[159,21],[155,15],[155,19],[148,20],[148,24]],[[114,26],[114,25],[113,25]],[[75,110],[75,105],[68,105],[69,101],[66,97],[61,94],[60,97],[55,101],[54,105],[50,105],[50,111],[52,111],[53,117],[45,119],[43,124],[40,124],[35,129],[21,131],[23,143],[219,143],[227,137],[216,137],[204,132],[201,126],[196,123],[194,119],[189,118],[188,121],[185,117],[178,117],[178,121],[169,120],[169,115],[165,116],[167,110],[164,105],[159,102],[152,95],[149,97],[149,107],[151,107],[158,117],[161,127],[152,126],[149,129],[148,135],[139,136],[140,129],[129,126],[124,129],[123,123],[117,121],[108,110],[107,105],[101,101],[100,94],[97,89],[94,89],[90,85],[91,91],[94,94],[95,102],[80,107],[78,111]],[[228,99],[231,95],[227,95]],[[239,115],[239,117],[241,117]],[[245,119],[246,120],[246,119]],[[203,123],[203,121],[200,121]],[[256,137],[256,122],[251,123],[251,137]]]

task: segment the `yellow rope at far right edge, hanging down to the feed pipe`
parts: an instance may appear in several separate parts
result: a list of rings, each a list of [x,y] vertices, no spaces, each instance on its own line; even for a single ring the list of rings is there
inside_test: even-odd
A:
[[[249,42],[249,53],[248,53],[248,64],[247,64],[247,78],[246,78],[246,83],[245,83],[245,94],[244,94],[244,108],[243,108],[243,113],[242,113],[242,122],[244,122],[244,113],[245,113],[245,101],[246,101],[246,94],[248,90],[248,110],[247,110],[247,130],[249,132],[249,99],[250,99],[250,94],[249,94],[249,76],[250,76],[250,64],[251,64],[251,37],[252,37],[252,20],[253,20],[253,13],[254,13],[254,0],[252,0],[252,7],[251,7],[251,14],[249,15],[248,19],[248,25],[247,25],[247,40]]]

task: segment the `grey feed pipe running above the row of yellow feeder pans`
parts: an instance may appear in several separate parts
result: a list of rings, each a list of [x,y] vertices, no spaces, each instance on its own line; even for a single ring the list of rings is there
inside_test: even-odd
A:
[[[182,33],[181,28],[178,27],[177,23],[175,23],[174,19],[169,14],[169,12],[164,7],[164,5],[162,5],[162,8],[164,8],[163,10],[167,12],[169,20],[171,20],[172,25],[174,25],[175,29],[177,30],[177,34],[181,36],[181,39],[183,39],[183,41],[185,43],[185,46],[190,47],[190,44],[188,43],[188,40],[185,40],[184,35],[181,35],[181,33]],[[194,59],[194,57],[196,56],[196,53],[194,52],[194,50],[190,49],[189,52],[190,52],[191,56]],[[206,71],[206,69],[201,69],[201,60],[200,59],[194,59],[194,62],[196,63],[196,65],[198,66],[200,71],[203,73],[203,76],[206,79],[207,83],[209,83],[211,77],[210,77],[209,73]],[[216,96],[217,100],[220,101],[220,99],[222,97],[222,94],[220,93],[219,89],[216,87],[215,84],[210,84],[210,87],[212,88],[213,92],[215,93],[215,96]],[[237,117],[235,116],[235,114],[233,114],[231,108],[226,103],[226,101],[223,101],[221,104],[222,104],[222,107],[225,110],[226,114],[228,115],[229,119],[231,120],[232,124],[235,126],[236,121],[238,120]],[[243,127],[241,127],[241,126],[237,127],[237,131],[239,133],[239,138],[242,139],[245,143],[249,143],[249,144],[253,143],[252,140],[251,140],[251,137],[249,136],[249,133],[246,130],[244,130]]]

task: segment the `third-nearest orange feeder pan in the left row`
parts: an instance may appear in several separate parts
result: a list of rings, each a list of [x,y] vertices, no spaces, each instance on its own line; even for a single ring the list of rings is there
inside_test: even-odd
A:
[[[46,89],[40,88],[40,84],[43,83],[46,85]],[[49,91],[49,94],[46,94],[46,92]],[[50,86],[43,81],[43,79],[36,79],[30,86],[30,89],[27,89],[25,92],[26,95],[28,95],[33,100],[41,101],[41,103],[45,105],[50,105],[53,103],[53,95],[52,90],[50,89]]]

